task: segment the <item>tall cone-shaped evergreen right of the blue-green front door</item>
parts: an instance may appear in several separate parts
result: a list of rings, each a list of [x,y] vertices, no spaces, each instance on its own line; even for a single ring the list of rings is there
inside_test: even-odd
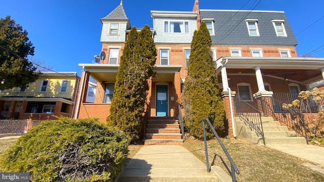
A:
[[[199,30],[195,30],[192,37],[188,76],[181,95],[186,126],[190,134],[198,139],[204,136],[200,119],[209,118],[218,132],[224,129],[225,108],[219,95],[211,45],[206,23],[201,22]],[[207,131],[207,137],[212,138],[211,130]]]

